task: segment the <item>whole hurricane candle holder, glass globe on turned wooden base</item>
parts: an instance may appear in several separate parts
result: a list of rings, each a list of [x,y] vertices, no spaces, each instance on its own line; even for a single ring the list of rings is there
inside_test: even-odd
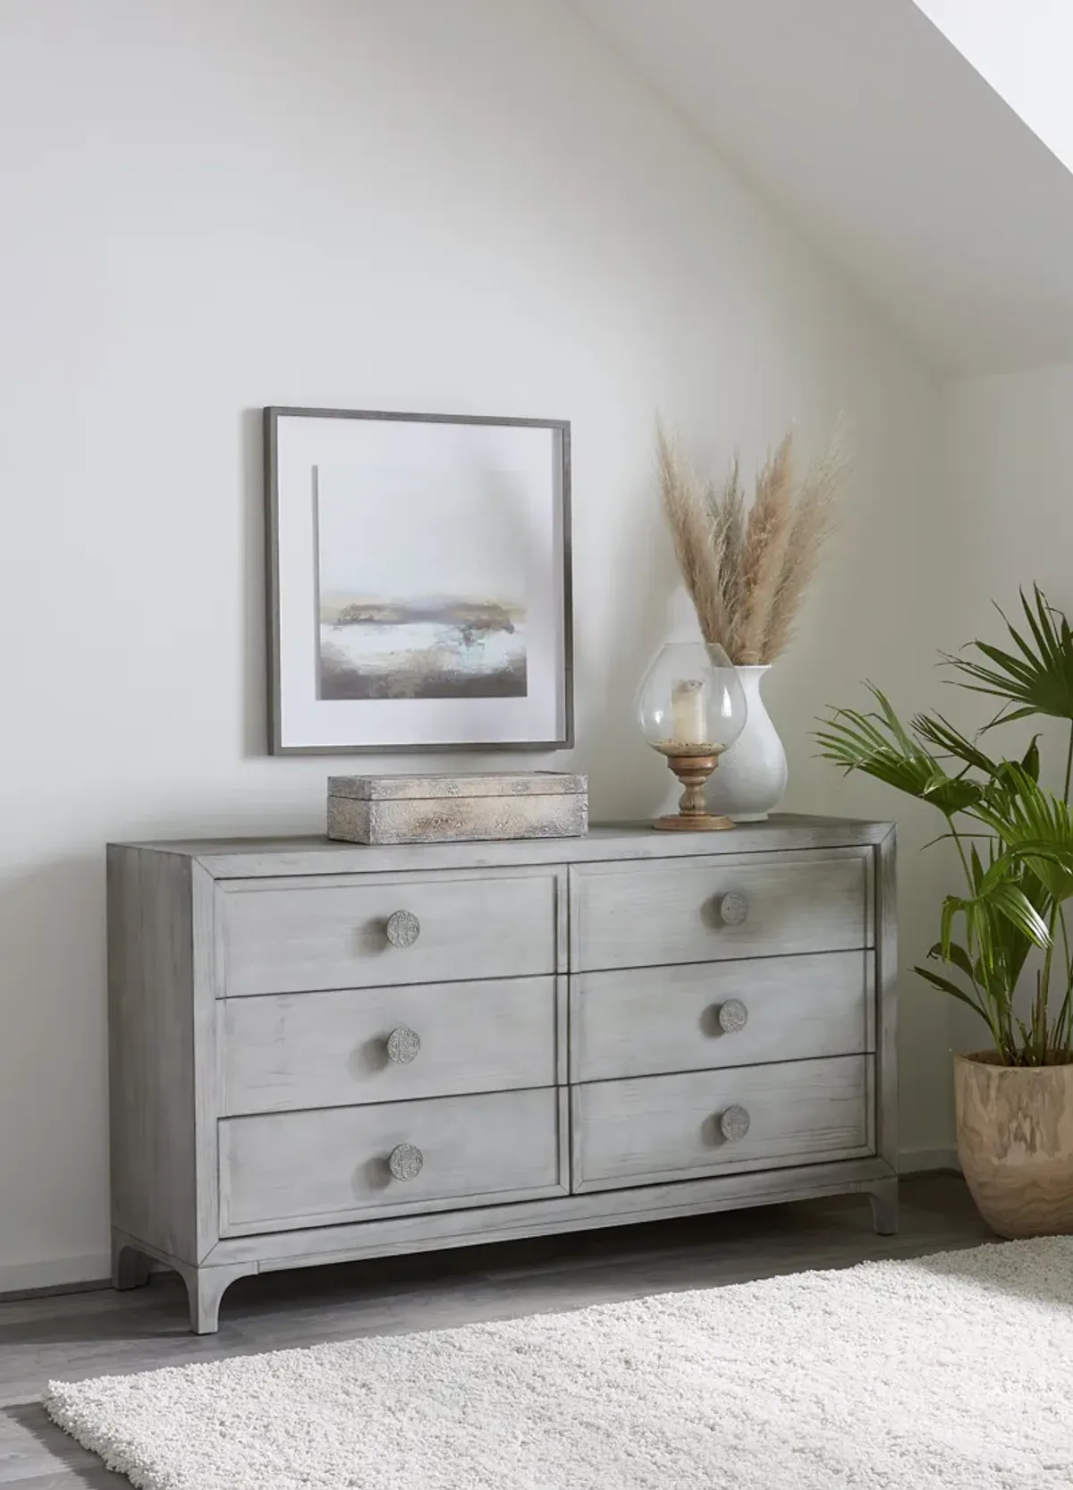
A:
[[[745,729],[745,693],[723,648],[665,642],[641,679],[636,708],[644,738],[683,784],[678,812],[653,825],[686,833],[732,828],[730,818],[714,817],[705,803],[720,755]]]

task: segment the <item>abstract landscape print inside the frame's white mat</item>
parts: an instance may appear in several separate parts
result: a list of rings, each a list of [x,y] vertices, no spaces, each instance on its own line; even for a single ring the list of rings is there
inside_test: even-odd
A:
[[[525,511],[510,472],[322,468],[317,697],[523,699]]]

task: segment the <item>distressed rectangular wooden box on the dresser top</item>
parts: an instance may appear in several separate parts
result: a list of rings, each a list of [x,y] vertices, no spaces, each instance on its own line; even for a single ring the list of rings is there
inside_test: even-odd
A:
[[[531,770],[328,778],[328,837],[346,843],[581,837],[587,830],[586,776]]]

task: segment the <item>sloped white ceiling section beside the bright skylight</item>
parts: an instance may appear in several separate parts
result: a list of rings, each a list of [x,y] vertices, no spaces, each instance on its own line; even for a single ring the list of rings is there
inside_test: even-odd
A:
[[[949,372],[1073,358],[1073,176],[914,0],[575,0]]]

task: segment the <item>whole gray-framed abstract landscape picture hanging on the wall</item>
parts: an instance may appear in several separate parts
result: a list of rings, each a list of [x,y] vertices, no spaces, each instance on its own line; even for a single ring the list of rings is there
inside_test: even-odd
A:
[[[265,408],[273,754],[572,745],[569,423]]]

